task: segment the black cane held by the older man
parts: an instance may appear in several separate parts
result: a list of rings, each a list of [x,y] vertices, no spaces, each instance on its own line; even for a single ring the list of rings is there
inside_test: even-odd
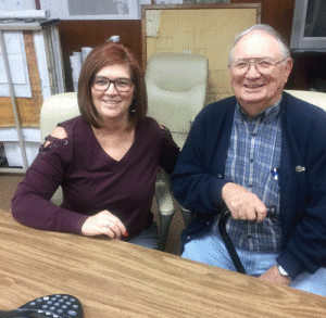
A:
[[[275,206],[271,206],[267,208],[267,217],[273,217],[275,216],[275,212],[276,212],[276,207]],[[221,238],[225,244],[225,247],[237,269],[238,272],[241,274],[246,274],[246,270],[243,268],[243,265],[239,258],[239,255],[233,244],[231,239],[229,238],[227,231],[226,231],[226,221],[228,219],[228,217],[230,216],[230,212],[228,208],[226,208],[225,211],[223,211],[221,213],[221,217],[218,220],[218,232],[221,234]]]

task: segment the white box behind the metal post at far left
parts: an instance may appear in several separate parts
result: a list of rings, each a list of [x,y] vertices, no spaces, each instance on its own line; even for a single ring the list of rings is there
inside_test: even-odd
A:
[[[37,128],[22,128],[28,167],[38,154],[41,143],[40,130]],[[4,153],[10,167],[23,167],[23,156],[18,143],[16,128],[0,128],[0,140],[4,145]]]

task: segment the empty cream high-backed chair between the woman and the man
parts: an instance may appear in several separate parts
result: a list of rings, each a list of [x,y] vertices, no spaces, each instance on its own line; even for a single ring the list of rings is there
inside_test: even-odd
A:
[[[205,104],[208,68],[208,60],[199,54],[162,52],[149,58],[146,71],[149,116],[166,126],[180,148],[192,120]],[[160,214],[160,225],[167,237],[174,215],[174,200],[170,190],[170,176],[163,174],[163,178],[161,182],[165,183],[165,200],[172,209]],[[180,209],[185,225],[188,226],[192,214],[181,206]],[[166,238],[163,241],[164,249],[165,243]]]

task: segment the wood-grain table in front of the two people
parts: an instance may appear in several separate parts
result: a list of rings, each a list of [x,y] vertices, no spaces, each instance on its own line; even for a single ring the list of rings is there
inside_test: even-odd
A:
[[[104,238],[30,229],[0,211],[0,309],[47,294],[85,318],[326,317],[326,297]]]

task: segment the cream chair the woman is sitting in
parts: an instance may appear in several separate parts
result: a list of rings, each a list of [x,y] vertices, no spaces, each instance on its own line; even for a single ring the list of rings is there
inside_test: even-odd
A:
[[[50,135],[57,127],[58,123],[64,122],[66,119],[73,118],[80,115],[77,93],[76,92],[65,92],[59,93],[48,98],[40,111],[40,132],[42,142],[45,138]],[[159,214],[165,215],[173,211],[172,201],[168,200],[168,190],[166,188],[166,174],[163,170],[159,173],[160,178],[158,178],[156,189],[155,189],[155,200],[158,202]],[[60,205],[63,201],[63,194],[61,187],[57,190],[54,195],[51,198],[51,202]],[[164,229],[164,225],[160,225],[160,229]],[[167,229],[168,230],[168,229]],[[163,251],[165,249],[167,233],[165,230],[160,231],[159,249]]]

